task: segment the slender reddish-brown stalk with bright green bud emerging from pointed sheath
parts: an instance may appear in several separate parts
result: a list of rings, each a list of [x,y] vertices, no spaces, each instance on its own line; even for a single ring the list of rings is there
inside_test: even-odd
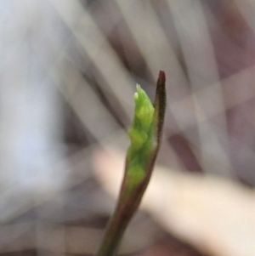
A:
[[[105,230],[97,256],[114,256],[133,214],[139,208],[144,191],[150,181],[166,109],[166,77],[160,71],[156,86],[154,107],[144,91],[137,88],[133,124],[129,129],[131,145],[127,150],[125,175],[116,209]]]

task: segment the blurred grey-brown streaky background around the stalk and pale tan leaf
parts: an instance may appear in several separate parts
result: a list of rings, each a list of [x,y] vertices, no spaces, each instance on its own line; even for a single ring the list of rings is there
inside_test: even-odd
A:
[[[0,0],[0,255],[93,255],[115,205],[93,152],[127,148],[135,85],[153,99],[159,70],[157,162],[253,187],[254,12],[252,0]],[[125,255],[203,255],[147,213],[133,229]]]

